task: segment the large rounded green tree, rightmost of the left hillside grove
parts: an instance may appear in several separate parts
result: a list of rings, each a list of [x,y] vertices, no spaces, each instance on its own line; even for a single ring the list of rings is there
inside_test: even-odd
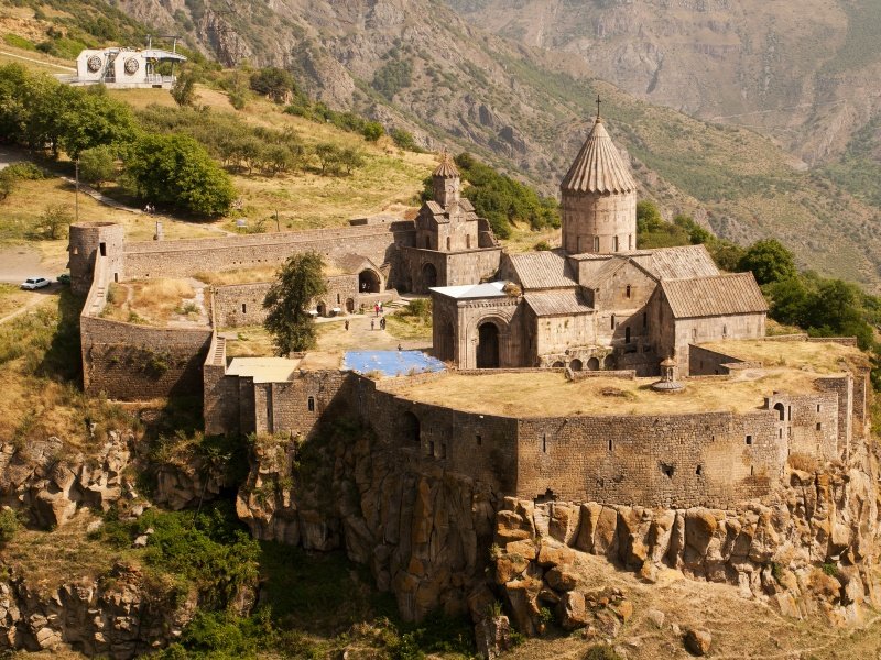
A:
[[[126,155],[126,179],[142,199],[204,216],[236,199],[229,175],[187,135],[142,135]]]

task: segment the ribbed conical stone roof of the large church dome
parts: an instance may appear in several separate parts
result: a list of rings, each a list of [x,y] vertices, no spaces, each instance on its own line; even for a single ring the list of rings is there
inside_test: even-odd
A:
[[[637,189],[633,175],[599,117],[559,189],[598,194],[631,193]]]

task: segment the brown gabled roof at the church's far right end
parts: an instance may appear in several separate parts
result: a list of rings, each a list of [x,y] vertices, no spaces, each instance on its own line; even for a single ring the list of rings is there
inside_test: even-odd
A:
[[[752,273],[662,279],[661,289],[676,319],[768,311],[768,304]]]

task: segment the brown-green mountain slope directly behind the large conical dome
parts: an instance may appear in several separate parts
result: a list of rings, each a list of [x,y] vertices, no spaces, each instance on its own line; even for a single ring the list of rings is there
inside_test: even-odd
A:
[[[98,2],[99,0],[90,0]],[[722,235],[777,235],[804,265],[881,283],[875,210],[771,141],[653,107],[597,81],[578,57],[483,32],[427,0],[120,0],[119,7],[227,63],[296,73],[319,98],[468,150],[548,194],[577,153],[600,91],[643,196],[696,212]],[[235,10],[235,11],[233,11]]]

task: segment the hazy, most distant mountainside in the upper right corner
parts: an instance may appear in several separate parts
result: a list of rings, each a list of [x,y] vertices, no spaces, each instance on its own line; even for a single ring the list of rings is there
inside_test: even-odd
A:
[[[447,2],[474,24],[570,53],[639,98],[773,135],[812,164],[839,155],[881,108],[878,2]]]

